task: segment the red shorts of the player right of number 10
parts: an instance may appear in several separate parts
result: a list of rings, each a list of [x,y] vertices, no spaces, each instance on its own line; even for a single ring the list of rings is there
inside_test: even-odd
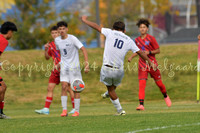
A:
[[[152,68],[146,69],[146,70],[142,70],[139,69],[138,70],[138,79],[148,79],[148,73],[151,75],[151,78],[153,78],[154,80],[159,80],[161,79],[161,74],[160,74],[160,70],[157,69],[156,71],[154,71]]]

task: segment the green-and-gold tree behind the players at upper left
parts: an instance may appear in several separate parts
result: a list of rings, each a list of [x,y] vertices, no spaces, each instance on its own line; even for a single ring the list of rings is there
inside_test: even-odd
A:
[[[13,46],[17,49],[41,48],[50,38],[49,28],[60,20],[67,21],[69,33],[77,36],[84,34],[78,28],[78,12],[56,13],[54,0],[16,0],[14,12],[7,20],[15,22],[18,33],[14,36]],[[73,30],[71,30],[73,29]]]

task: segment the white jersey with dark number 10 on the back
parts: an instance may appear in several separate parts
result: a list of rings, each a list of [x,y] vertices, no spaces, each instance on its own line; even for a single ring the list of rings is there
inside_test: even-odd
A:
[[[101,33],[106,37],[103,65],[123,67],[126,53],[129,50],[133,53],[140,50],[135,42],[121,31],[102,28]]]

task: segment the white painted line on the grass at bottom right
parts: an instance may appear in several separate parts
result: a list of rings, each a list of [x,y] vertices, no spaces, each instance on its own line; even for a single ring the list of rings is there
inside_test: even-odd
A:
[[[128,133],[138,133],[138,132],[144,132],[144,131],[166,129],[166,128],[171,128],[171,127],[188,127],[188,126],[197,126],[197,125],[200,125],[200,123],[192,123],[192,124],[184,124],[184,125],[170,125],[170,126],[146,128],[146,129],[140,129],[140,130],[135,130],[135,131],[129,131]]]

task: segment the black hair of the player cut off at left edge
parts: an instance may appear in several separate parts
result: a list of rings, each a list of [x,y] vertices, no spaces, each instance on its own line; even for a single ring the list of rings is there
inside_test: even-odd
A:
[[[10,31],[10,30],[11,31],[17,31],[17,26],[12,22],[7,21],[7,22],[5,22],[1,25],[0,30],[1,30],[2,34],[7,34],[8,31]]]

